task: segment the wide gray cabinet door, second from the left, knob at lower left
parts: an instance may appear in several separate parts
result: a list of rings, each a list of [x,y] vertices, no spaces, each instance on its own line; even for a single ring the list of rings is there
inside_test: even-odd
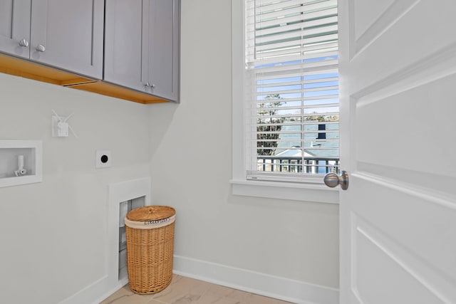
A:
[[[103,0],[33,0],[30,58],[101,79]]]

